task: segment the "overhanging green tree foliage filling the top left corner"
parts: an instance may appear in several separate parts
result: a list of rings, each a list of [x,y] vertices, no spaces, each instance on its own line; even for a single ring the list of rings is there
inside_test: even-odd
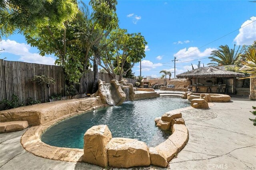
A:
[[[15,31],[36,35],[40,28],[65,28],[78,11],[75,0],[1,0],[0,35],[10,36]]]

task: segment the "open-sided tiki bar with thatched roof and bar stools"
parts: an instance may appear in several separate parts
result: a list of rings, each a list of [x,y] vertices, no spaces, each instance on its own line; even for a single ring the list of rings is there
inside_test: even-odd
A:
[[[178,78],[190,79],[192,91],[200,93],[236,94],[236,78],[243,73],[226,71],[217,67],[200,67],[177,75]]]

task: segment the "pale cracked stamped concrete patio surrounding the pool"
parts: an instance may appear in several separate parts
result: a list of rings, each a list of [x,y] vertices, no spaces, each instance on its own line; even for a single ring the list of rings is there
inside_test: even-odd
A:
[[[189,140],[169,169],[256,169],[256,127],[249,118],[255,101],[231,98],[208,110],[182,112]],[[152,120],[154,121],[154,120]],[[86,163],[63,162],[26,152],[20,137],[25,130],[0,134],[0,169],[103,169]],[[165,169],[155,166],[142,169]],[[134,168],[131,168],[134,169]]]

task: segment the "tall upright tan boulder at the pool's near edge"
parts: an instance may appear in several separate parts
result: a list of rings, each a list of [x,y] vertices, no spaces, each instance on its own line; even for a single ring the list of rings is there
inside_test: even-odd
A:
[[[107,146],[112,134],[107,125],[89,128],[84,134],[83,161],[98,166],[108,166]]]

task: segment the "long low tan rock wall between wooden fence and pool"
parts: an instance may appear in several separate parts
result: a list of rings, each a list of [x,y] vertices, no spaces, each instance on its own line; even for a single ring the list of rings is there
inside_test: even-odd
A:
[[[104,106],[100,97],[68,99],[0,111],[0,122],[28,121],[30,126],[45,124],[64,115],[75,115]]]

